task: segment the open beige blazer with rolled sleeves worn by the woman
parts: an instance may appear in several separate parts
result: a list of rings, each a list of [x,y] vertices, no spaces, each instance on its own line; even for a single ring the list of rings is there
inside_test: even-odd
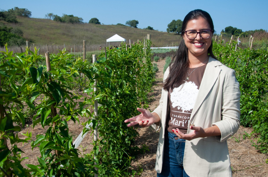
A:
[[[163,81],[168,74],[169,68]],[[162,171],[168,105],[168,92],[162,89],[159,106],[153,111],[161,121],[159,125],[152,125],[156,130],[162,126],[156,153],[155,169],[158,173]],[[221,130],[221,136],[186,140],[183,159],[186,173],[191,177],[232,176],[226,140],[237,132],[240,125],[240,90],[233,69],[209,57],[188,124],[202,128],[216,125]],[[187,133],[193,131],[189,127]]]

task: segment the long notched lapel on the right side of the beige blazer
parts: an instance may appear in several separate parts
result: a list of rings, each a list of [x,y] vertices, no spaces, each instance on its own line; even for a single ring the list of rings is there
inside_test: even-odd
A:
[[[221,66],[221,65],[222,65],[221,62],[219,62],[218,60],[215,60],[214,58],[209,57],[209,61],[207,63],[207,67],[205,69],[204,76],[202,78],[199,91],[197,94],[197,98],[195,100],[195,104],[192,110],[190,121],[192,117],[195,115],[198,108],[201,106],[202,102],[204,101],[207,94],[213,87],[214,83],[216,82],[221,72],[221,69],[216,68],[216,66]]]

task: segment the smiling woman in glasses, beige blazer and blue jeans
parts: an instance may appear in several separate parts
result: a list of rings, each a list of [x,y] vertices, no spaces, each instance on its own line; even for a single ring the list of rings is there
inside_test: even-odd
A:
[[[125,122],[156,130],[162,126],[157,176],[232,176],[226,140],[240,124],[239,83],[234,70],[212,53],[214,26],[207,12],[189,12],[181,31],[159,106],[152,113],[137,108],[141,114]]]

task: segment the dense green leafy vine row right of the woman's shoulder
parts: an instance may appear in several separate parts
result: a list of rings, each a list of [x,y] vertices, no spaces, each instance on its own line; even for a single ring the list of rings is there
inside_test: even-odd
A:
[[[235,51],[234,46],[214,42],[214,55],[236,71],[241,91],[241,125],[253,128],[253,133],[258,134],[258,142],[253,146],[262,153],[268,153],[268,51],[249,48],[237,48]]]

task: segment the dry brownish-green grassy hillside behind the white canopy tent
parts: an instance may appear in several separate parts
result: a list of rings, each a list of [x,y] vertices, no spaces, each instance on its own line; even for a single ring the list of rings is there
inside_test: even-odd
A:
[[[13,28],[19,28],[23,31],[23,38],[29,40],[32,44],[42,50],[46,49],[48,44],[51,50],[54,51],[59,46],[63,48],[64,44],[66,49],[70,51],[70,48],[76,44],[76,51],[80,51],[83,40],[87,40],[87,51],[93,51],[98,49],[99,46],[106,46],[106,39],[112,37],[115,34],[124,37],[129,44],[134,41],[143,40],[147,34],[151,34],[151,41],[154,46],[165,47],[177,45],[180,40],[179,35],[173,33],[159,32],[152,30],[145,30],[139,28],[131,28],[128,26],[117,26],[117,25],[97,25],[97,24],[67,24],[50,21],[48,19],[36,19],[17,17],[18,24],[8,24],[7,26]],[[52,46],[53,44],[53,46]],[[110,43],[110,45],[119,45],[117,43]],[[18,50],[14,48],[14,50]]]

